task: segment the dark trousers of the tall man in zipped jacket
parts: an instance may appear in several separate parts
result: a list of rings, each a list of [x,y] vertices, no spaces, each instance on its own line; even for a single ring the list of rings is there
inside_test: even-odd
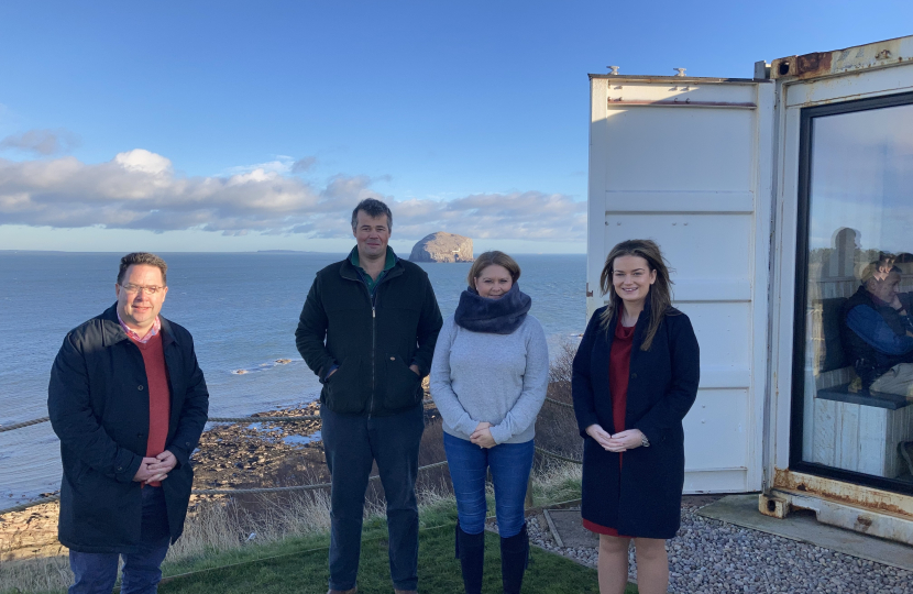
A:
[[[330,469],[330,588],[355,587],[364,494],[376,461],[387,501],[389,574],[397,590],[418,586],[418,447],[420,406],[388,417],[340,415],[320,407],[323,452]]]

